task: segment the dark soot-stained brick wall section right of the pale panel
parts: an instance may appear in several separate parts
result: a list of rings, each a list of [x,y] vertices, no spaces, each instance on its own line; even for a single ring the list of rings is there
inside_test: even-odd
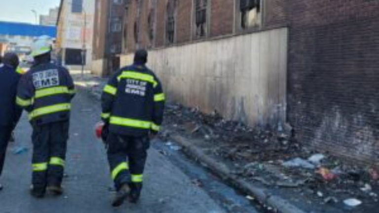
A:
[[[288,118],[297,137],[361,162],[379,157],[379,1],[291,0]]]

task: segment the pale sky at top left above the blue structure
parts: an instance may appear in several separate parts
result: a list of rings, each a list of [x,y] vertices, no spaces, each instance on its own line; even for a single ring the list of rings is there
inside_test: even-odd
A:
[[[0,21],[36,23],[32,9],[46,15],[50,8],[59,6],[60,0],[0,0]]]

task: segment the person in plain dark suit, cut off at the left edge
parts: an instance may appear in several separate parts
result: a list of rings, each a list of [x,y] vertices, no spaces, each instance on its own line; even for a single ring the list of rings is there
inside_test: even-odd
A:
[[[18,64],[18,56],[12,53],[6,53],[0,64],[0,176],[9,139],[22,112],[16,105],[17,84],[21,78],[16,71]]]

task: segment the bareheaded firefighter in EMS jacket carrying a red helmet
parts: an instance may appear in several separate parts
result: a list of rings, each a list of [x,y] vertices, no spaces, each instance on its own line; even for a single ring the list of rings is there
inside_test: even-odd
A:
[[[165,97],[158,78],[146,67],[147,58],[146,50],[138,50],[134,64],[115,72],[102,94],[108,161],[117,190],[114,207],[128,197],[138,201],[150,136],[158,133],[163,120]]]

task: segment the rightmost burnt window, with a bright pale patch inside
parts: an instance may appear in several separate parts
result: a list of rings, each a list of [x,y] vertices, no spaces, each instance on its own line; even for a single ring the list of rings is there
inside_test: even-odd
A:
[[[261,0],[240,0],[239,11],[242,29],[257,27],[260,24]]]

